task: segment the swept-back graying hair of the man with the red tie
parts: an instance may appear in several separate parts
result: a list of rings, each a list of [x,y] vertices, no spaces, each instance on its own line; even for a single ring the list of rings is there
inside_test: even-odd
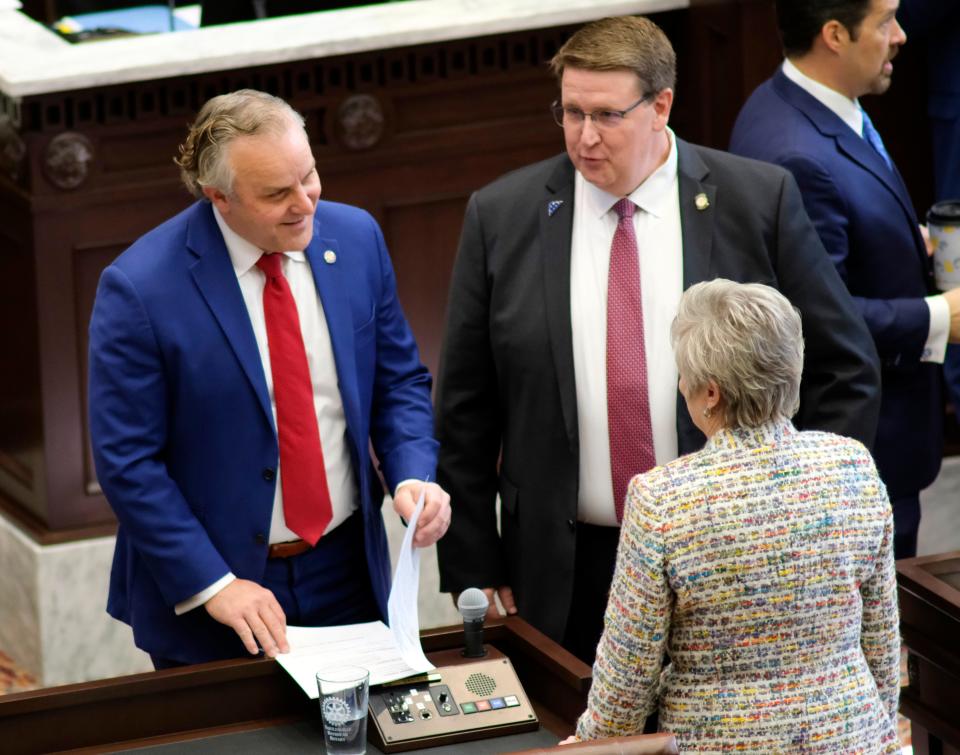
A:
[[[180,178],[198,199],[203,188],[212,186],[224,194],[233,189],[233,168],[227,147],[240,136],[279,134],[292,124],[304,125],[303,116],[279,97],[240,89],[206,102],[180,145]]]

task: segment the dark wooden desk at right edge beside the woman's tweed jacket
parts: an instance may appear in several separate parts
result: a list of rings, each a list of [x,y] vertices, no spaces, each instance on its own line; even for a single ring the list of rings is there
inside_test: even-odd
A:
[[[897,562],[900,630],[915,755],[960,753],[960,551]]]

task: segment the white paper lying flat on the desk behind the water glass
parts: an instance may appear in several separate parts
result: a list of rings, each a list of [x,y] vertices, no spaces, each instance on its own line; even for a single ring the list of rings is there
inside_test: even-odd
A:
[[[339,627],[287,627],[290,652],[277,656],[294,681],[312,698],[319,697],[316,674],[329,666],[348,663],[370,672],[370,684],[421,673],[433,666],[414,668],[401,657],[393,633],[382,621]]]

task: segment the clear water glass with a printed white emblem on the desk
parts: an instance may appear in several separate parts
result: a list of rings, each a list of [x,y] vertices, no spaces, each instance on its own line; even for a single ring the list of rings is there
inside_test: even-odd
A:
[[[360,666],[321,669],[317,689],[329,755],[363,755],[367,751],[370,673]]]

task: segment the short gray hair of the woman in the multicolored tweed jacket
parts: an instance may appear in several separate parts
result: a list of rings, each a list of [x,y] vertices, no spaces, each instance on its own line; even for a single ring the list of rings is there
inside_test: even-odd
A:
[[[800,312],[775,288],[723,278],[697,283],[680,297],[670,337],[687,390],[711,380],[719,387],[724,426],[757,427],[796,414]]]

